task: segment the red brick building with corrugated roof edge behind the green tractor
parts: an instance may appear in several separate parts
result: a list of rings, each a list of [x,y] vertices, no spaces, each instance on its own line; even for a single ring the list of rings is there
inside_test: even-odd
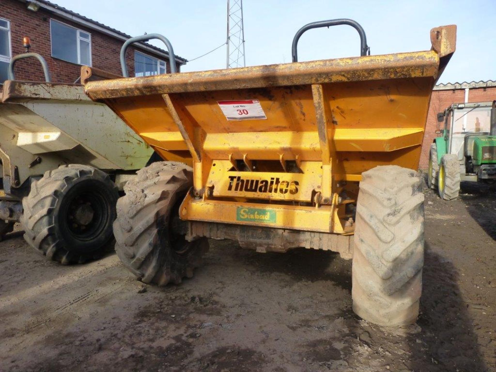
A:
[[[426,133],[422,144],[419,168],[429,168],[429,149],[434,138],[438,136],[437,113],[444,111],[454,103],[489,102],[496,100],[496,81],[472,81],[471,83],[438,84],[434,87],[429,113],[427,115]],[[442,124],[441,124],[442,126]]]

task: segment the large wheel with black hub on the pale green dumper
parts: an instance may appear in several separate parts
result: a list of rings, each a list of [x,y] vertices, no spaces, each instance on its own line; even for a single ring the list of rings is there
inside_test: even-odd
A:
[[[99,258],[113,239],[118,198],[109,175],[93,167],[48,171],[22,199],[24,239],[64,265]]]

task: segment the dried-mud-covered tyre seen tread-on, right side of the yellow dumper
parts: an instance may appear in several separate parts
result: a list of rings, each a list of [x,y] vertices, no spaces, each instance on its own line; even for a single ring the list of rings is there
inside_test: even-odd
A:
[[[362,174],[352,266],[353,311],[385,326],[414,323],[424,264],[422,178],[411,169]]]

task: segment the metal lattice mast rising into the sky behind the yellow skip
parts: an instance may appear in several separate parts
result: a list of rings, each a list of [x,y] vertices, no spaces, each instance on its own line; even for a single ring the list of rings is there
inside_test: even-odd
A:
[[[227,68],[245,67],[243,0],[227,0]]]

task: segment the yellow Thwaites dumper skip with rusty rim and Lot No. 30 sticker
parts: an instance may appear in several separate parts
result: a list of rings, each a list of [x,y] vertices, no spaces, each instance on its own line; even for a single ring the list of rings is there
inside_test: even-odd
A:
[[[164,159],[193,165],[192,196],[203,200],[185,203],[204,204],[182,218],[209,220],[219,212],[205,207],[209,198],[233,207],[268,200],[291,216],[275,227],[298,220],[299,229],[346,233],[344,215],[341,228],[327,215],[315,227],[302,210],[332,205],[318,209],[332,213],[343,187],[356,191],[343,185],[375,166],[418,167],[432,88],[455,35],[454,25],[434,28],[422,52],[92,81],[86,93]],[[300,217],[289,212],[295,203]]]

